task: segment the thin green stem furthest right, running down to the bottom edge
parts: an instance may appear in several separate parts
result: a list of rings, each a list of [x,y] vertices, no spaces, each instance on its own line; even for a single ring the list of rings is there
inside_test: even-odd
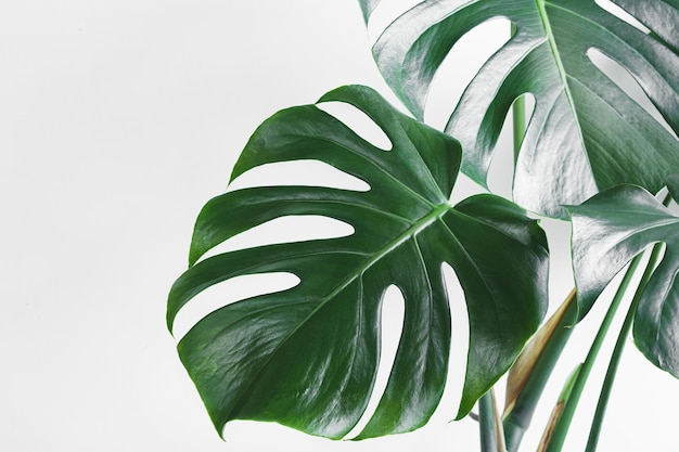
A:
[[[666,197],[663,204],[667,205],[668,203],[669,198]],[[641,281],[639,282],[637,292],[635,293],[635,298],[632,298],[632,302],[629,307],[629,310],[627,311],[627,315],[625,315],[625,321],[623,322],[623,326],[620,327],[620,333],[615,343],[615,348],[613,349],[613,354],[611,356],[608,369],[606,370],[606,376],[603,380],[603,387],[601,388],[601,395],[599,396],[599,402],[597,403],[597,411],[594,412],[594,418],[592,421],[592,427],[589,431],[589,438],[587,440],[587,447],[585,449],[585,452],[594,452],[597,450],[599,436],[601,435],[601,427],[603,425],[603,418],[605,416],[606,408],[608,405],[608,399],[611,398],[611,391],[613,389],[613,383],[615,382],[617,369],[620,364],[623,350],[625,349],[625,345],[627,344],[627,337],[629,336],[629,332],[632,327],[632,321],[637,312],[637,307],[639,306],[641,294],[649,283],[649,280],[651,279],[651,275],[653,274],[653,271],[655,270],[658,260],[661,259],[662,250],[663,245],[659,243],[653,247],[653,251],[651,253],[651,257],[649,258],[646,269],[641,276]]]

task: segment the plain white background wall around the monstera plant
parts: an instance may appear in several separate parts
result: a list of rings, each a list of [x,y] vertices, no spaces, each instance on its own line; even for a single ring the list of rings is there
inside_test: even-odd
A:
[[[394,99],[369,42],[351,0],[0,2],[0,450],[477,448],[474,422],[448,424],[445,404],[431,426],[381,440],[233,423],[225,443],[165,328],[195,216],[257,125],[345,83]],[[469,70],[458,61],[453,72]],[[572,282],[567,225],[554,230],[555,304]],[[576,332],[563,377],[601,313]],[[631,344],[620,372],[600,450],[676,449],[677,382]],[[566,450],[581,448],[584,412]]]

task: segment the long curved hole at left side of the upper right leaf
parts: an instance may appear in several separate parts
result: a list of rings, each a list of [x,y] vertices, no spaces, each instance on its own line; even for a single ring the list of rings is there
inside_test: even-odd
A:
[[[436,70],[427,94],[424,120],[443,130],[466,86],[511,38],[511,22],[491,18],[462,36]],[[473,51],[470,51],[473,49]]]

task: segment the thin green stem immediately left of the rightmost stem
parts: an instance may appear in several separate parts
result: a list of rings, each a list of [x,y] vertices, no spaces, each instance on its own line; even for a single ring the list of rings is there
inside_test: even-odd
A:
[[[546,452],[560,452],[563,448],[563,443],[566,439],[566,434],[568,432],[571,422],[573,421],[573,415],[575,414],[575,409],[577,408],[578,402],[580,401],[580,396],[582,395],[582,390],[585,389],[585,384],[587,383],[589,374],[594,365],[594,362],[597,361],[597,356],[599,354],[604,338],[606,337],[608,328],[611,327],[611,323],[613,322],[615,313],[620,306],[620,302],[623,301],[625,293],[627,292],[627,288],[631,283],[632,276],[635,274],[635,271],[639,267],[641,255],[632,259],[629,268],[627,269],[627,272],[625,273],[625,276],[623,277],[623,281],[620,282],[620,286],[618,287],[615,296],[613,297],[613,300],[611,301],[611,306],[608,307],[608,310],[606,311],[601,326],[599,327],[599,332],[597,332],[597,336],[594,337],[589,352],[587,353],[587,358],[585,359],[585,362],[582,363],[582,366],[578,372],[578,376],[573,385],[571,396],[566,400],[563,412],[561,413],[559,422],[554,427],[554,431],[552,432],[549,447],[547,448]]]

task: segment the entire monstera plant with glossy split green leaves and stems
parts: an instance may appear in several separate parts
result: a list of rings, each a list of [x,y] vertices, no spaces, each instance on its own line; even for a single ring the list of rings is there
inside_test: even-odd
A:
[[[388,2],[359,1],[367,23],[382,3]],[[460,38],[496,18],[511,22],[508,41],[451,101],[445,128],[427,126],[427,93],[444,61]],[[376,390],[381,311],[392,286],[403,298],[402,332],[376,409],[354,439],[427,423],[457,347],[451,317],[462,315],[469,352],[458,417],[478,402],[482,450],[518,450],[571,332],[622,271],[587,360],[546,419],[540,450],[561,450],[626,293],[633,299],[588,450],[597,447],[630,332],[651,363],[679,376],[679,218],[668,208],[679,199],[677,24],[677,0],[420,1],[386,26],[373,47],[407,113],[370,88],[346,86],[316,105],[267,119],[231,180],[267,164],[318,160],[369,189],[254,186],[218,195],[198,215],[190,268],[168,298],[170,331],[181,308],[220,282],[280,272],[298,279],[291,288],[210,312],[180,339],[180,359],[219,434],[229,421],[256,419],[345,438]],[[615,62],[643,94],[619,86],[598,59]],[[528,98],[534,106],[526,114]],[[361,138],[322,108],[330,102],[363,112],[390,145]],[[453,205],[458,171],[487,188],[510,111],[513,199],[486,193]],[[353,232],[206,256],[242,232],[287,216],[323,216]],[[573,229],[576,287],[549,320],[549,251],[540,216],[571,221]],[[446,264],[463,289],[465,312],[451,310]],[[492,388],[508,372],[500,416]]]

